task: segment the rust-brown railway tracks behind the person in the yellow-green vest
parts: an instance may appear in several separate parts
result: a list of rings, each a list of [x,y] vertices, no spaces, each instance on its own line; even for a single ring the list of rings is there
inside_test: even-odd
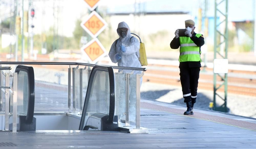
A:
[[[162,67],[165,69],[150,69],[151,66]],[[172,71],[173,68],[178,69],[178,66],[148,65],[148,67],[149,68],[147,69],[143,76],[143,82],[181,86],[179,79],[179,71]],[[213,70],[206,68],[205,72],[213,72]],[[200,72],[200,77],[198,80],[198,89],[213,91],[213,73],[205,72]],[[256,72],[229,70],[229,73],[236,74],[236,77],[228,77],[228,93],[256,96],[256,79],[252,79],[250,77],[239,77],[240,75],[256,76]],[[221,77],[217,75],[217,87],[220,84],[222,84],[222,80]],[[220,87],[218,89],[218,92],[224,92],[224,86]]]

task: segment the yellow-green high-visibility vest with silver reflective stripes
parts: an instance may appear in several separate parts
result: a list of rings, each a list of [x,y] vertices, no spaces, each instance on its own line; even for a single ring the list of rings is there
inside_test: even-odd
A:
[[[196,34],[196,37],[200,37],[202,34]],[[179,37],[180,38],[180,56],[179,62],[188,61],[200,61],[200,48],[190,39],[190,37]]]

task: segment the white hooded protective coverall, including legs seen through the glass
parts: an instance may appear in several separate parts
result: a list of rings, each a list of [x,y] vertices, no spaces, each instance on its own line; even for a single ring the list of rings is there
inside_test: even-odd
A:
[[[118,28],[127,28],[127,35],[123,38],[122,35],[119,35],[119,38],[117,40],[117,42],[114,41],[114,43],[111,45],[110,51],[109,51],[109,57],[111,59],[111,61],[113,63],[118,63],[118,66],[126,66],[126,67],[138,67],[141,68],[141,63],[138,59],[138,57],[140,56],[139,54],[139,49],[140,49],[140,42],[136,37],[132,37],[131,38],[131,31],[129,26],[125,23],[125,22],[120,22],[118,24]],[[131,39],[130,39],[131,38]],[[120,49],[120,45],[125,46],[125,52],[122,52]],[[121,59],[117,60],[116,59],[116,55],[120,55]],[[122,71],[122,69],[119,69],[118,72]],[[131,73],[132,70],[123,70],[123,73]],[[134,71],[133,74],[141,74],[142,71]],[[132,84],[130,84],[131,86],[134,86],[135,84],[133,84],[135,82],[132,82]],[[142,84],[142,77],[140,79],[140,85]],[[123,99],[125,97],[125,94],[123,94],[122,91],[117,91],[116,94],[116,98],[117,99]],[[122,101],[122,100],[117,100],[118,101]],[[135,122],[135,116],[136,116],[136,109],[135,109],[135,104],[136,104],[136,88],[131,87],[130,88],[130,121],[134,121]],[[116,114],[120,114],[120,118],[124,119],[125,116],[122,115],[122,113],[124,113],[125,111],[122,111],[125,109],[125,102],[122,103],[116,103],[119,106],[119,110],[116,111]],[[121,111],[120,111],[121,110]]]

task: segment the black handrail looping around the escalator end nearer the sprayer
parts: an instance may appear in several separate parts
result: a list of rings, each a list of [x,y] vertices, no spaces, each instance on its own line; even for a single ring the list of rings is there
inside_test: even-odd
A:
[[[97,71],[104,71],[109,73],[109,91],[110,91],[110,102],[109,102],[109,117],[107,119],[107,124],[112,124],[114,119],[114,112],[115,112],[115,77],[114,77],[114,71],[111,66],[104,66],[104,65],[95,65],[90,74],[86,97],[83,105],[83,112],[82,117],[80,120],[79,130],[83,130],[84,126],[84,120],[85,120],[85,114],[87,112],[87,107],[90,99],[90,93],[93,86],[93,78],[95,77],[95,74]]]

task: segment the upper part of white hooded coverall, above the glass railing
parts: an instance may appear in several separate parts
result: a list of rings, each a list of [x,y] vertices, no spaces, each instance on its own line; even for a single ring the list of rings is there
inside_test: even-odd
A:
[[[118,66],[126,66],[126,67],[138,67],[141,68],[141,63],[138,59],[140,57],[139,49],[140,49],[140,42],[136,37],[131,38],[131,31],[129,26],[125,22],[120,22],[118,24],[118,28],[127,28],[127,35],[123,38],[119,33],[119,38],[115,45],[115,42],[111,45],[109,51],[109,57],[113,63],[118,62]],[[131,38],[131,39],[130,39]],[[126,50],[122,52],[120,50],[120,45],[124,45]],[[116,55],[120,54],[121,59],[117,60]],[[118,72],[120,72],[119,70]],[[123,73],[131,73],[132,70],[123,70]],[[133,74],[141,74],[141,71],[134,71]],[[142,83],[142,77],[141,82]]]

